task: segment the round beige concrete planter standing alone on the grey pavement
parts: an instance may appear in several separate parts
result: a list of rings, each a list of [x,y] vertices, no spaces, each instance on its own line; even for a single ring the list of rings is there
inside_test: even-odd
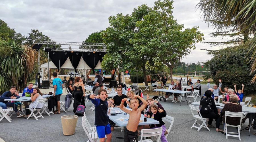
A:
[[[63,135],[74,135],[77,126],[77,115],[63,115],[61,116],[61,124]]]

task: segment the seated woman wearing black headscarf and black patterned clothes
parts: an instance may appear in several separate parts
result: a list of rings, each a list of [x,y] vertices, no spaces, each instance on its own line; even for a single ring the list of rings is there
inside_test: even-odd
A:
[[[220,115],[218,114],[218,110],[216,108],[215,102],[212,99],[212,91],[210,90],[205,91],[205,98],[203,97],[201,98],[199,109],[203,118],[209,118],[207,127],[214,128],[214,126],[212,126],[212,120],[215,119],[216,132],[223,131],[220,129],[221,118],[220,118]]]

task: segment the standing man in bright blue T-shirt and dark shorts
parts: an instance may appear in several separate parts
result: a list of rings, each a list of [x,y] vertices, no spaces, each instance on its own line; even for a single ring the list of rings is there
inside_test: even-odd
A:
[[[63,82],[61,81],[60,78],[57,78],[57,72],[53,72],[52,73],[53,76],[53,81],[52,81],[52,85],[54,86],[54,91],[53,91],[53,96],[55,96],[56,100],[57,100],[57,112],[54,112],[54,114],[60,114],[60,96],[62,94],[62,89],[63,89]]]

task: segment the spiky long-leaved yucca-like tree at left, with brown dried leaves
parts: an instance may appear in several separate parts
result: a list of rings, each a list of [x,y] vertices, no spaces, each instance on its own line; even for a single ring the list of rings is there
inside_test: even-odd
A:
[[[8,51],[8,52],[6,52]],[[37,72],[37,52],[13,39],[0,39],[0,94],[16,86],[21,90]]]

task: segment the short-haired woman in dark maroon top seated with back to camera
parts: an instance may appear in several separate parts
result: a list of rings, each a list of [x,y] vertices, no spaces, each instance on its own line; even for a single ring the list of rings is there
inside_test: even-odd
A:
[[[239,105],[238,102],[238,97],[235,94],[232,94],[229,96],[230,99],[230,103],[227,103],[222,111],[220,112],[220,116],[222,116],[222,121],[225,122],[225,111],[231,111],[231,112],[242,112],[242,106]],[[226,120],[227,124],[230,125],[239,125],[240,124],[240,118],[235,118],[235,117],[227,117]],[[224,123],[224,127],[225,127],[225,123]]]

